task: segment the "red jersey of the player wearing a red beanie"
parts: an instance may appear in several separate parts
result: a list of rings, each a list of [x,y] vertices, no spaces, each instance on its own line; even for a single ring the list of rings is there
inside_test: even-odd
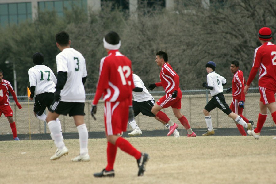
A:
[[[259,68],[259,86],[276,90],[276,45],[265,42],[256,48],[253,68]]]

